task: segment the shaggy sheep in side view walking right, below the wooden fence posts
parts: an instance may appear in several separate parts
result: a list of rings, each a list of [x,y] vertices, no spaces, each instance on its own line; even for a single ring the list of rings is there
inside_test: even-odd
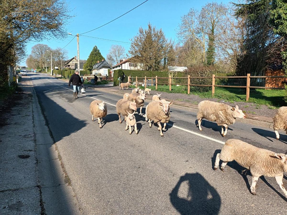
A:
[[[203,118],[209,121],[216,121],[217,125],[221,127],[222,136],[226,136],[228,125],[234,124],[236,118],[245,119],[246,116],[243,114],[242,110],[239,110],[238,106],[231,107],[224,103],[218,103],[214,101],[201,101],[198,104],[198,113],[197,113],[197,121],[198,128],[201,129],[201,120]],[[225,127],[225,131],[223,132],[223,127]]]

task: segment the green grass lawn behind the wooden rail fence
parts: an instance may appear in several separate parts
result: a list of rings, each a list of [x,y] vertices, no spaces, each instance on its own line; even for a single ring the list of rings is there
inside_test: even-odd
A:
[[[135,86],[131,86],[135,87]],[[140,86],[141,89],[144,87]],[[148,88],[155,91],[155,86],[148,86]],[[201,89],[203,87],[200,87]],[[202,92],[195,88],[190,87],[190,94],[198,95],[201,98],[212,98],[211,87],[207,87],[207,91]],[[208,89],[209,88],[209,89]],[[157,91],[167,92],[167,93],[184,93],[187,94],[187,86],[185,85],[172,85],[171,91],[169,91],[168,85],[158,85]],[[272,89],[250,89],[249,101],[252,103],[257,103],[261,105],[268,105],[275,107],[281,107],[286,105],[284,101],[284,90],[272,90]],[[246,99],[246,89],[244,88],[233,88],[233,87],[215,87],[214,98],[218,98],[220,100],[225,100],[229,102],[235,101],[243,101]],[[270,107],[271,109],[273,107]]]

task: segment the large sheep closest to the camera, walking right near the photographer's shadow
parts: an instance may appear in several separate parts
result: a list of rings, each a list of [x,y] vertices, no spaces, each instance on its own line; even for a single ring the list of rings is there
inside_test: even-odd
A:
[[[255,185],[258,178],[264,175],[275,177],[287,198],[287,191],[282,182],[283,173],[287,172],[287,155],[257,148],[238,139],[229,139],[225,142],[221,152],[216,155],[214,170],[218,169],[220,160],[222,160],[220,166],[222,171],[224,171],[227,162],[234,160],[241,166],[250,169],[252,175],[250,192],[253,195],[256,195]]]

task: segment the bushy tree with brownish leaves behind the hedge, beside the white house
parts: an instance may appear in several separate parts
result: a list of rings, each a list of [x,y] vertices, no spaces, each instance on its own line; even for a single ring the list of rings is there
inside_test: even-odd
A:
[[[134,62],[144,70],[166,70],[175,60],[174,42],[167,40],[162,29],[149,23],[147,29],[139,28],[139,33],[131,39],[129,54]]]

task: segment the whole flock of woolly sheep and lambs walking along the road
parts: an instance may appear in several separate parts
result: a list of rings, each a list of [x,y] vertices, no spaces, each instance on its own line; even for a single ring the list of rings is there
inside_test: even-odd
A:
[[[123,89],[124,87],[127,89],[130,85],[131,83],[129,82],[121,83],[120,89]],[[132,126],[134,126],[135,133],[138,133],[134,114],[137,108],[140,108],[139,114],[140,116],[143,116],[141,109],[144,106],[146,92],[150,95],[150,91],[151,90],[148,88],[146,88],[145,91],[140,90],[139,87],[135,88],[131,94],[125,93],[123,99],[120,99],[116,104],[119,122],[122,123],[122,115],[126,121],[125,130],[129,129],[129,134],[131,134]],[[150,128],[152,127],[152,121],[158,124],[160,136],[163,136],[162,130],[165,130],[166,123],[170,120],[169,107],[172,102],[160,99],[160,95],[161,94],[157,93],[157,95],[152,97],[152,101],[146,106],[145,117],[146,122],[149,122]],[[200,126],[201,120],[205,118],[209,121],[216,122],[218,126],[222,126],[222,136],[226,136],[228,125],[234,124],[236,118],[246,118],[245,114],[237,105],[231,107],[224,103],[214,101],[201,101],[198,104],[198,110],[197,121],[199,130],[202,131]],[[94,121],[94,118],[97,118],[101,128],[101,120],[107,114],[105,103],[100,100],[92,101],[90,104],[90,112],[92,114],[92,121]],[[164,124],[163,128],[161,123]],[[274,116],[273,123],[276,139],[278,140],[279,129],[284,129],[287,133],[287,107],[280,107],[278,109]],[[255,185],[258,178],[261,175],[264,175],[267,177],[275,177],[276,182],[287,198],[287,191],[282,182],[283,173],[287,172],[287,154],[274,153],[266,149],[257,148],[238,139],[229,139],[225,142],[221,153],[216,155],[214,170],[218,169],[220,160],[222,161],[220,166],[222,171],[224,171],[227,162],[234,160],[241,166],[250,170],[252,175],[250,192],[253,195],[256,195]]]

